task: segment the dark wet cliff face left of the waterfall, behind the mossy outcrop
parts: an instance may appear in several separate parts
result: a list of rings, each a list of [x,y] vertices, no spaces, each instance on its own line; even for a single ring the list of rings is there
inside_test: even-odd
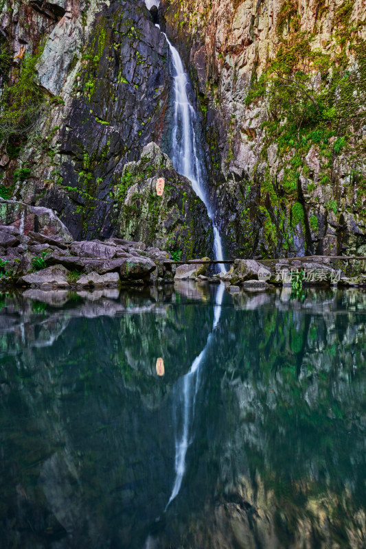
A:
[[[55,209],[79,240],[113,234],[113,189],[123,183],[124,165],[150,141],[160,143],[168,126],[165,38],[141,2],[5,3],[0,21],[10,90],[23,94],[23,113],[27,69],[37,90],[29,119],[14,118],[14,91],[5,106],[13,129],[0,123],[4,198]],[[178,200],[186,190],[176,185]],[[181,221],[190,226],[187,215]],[[203,239],[212,233],[208,218],[203,231]]]

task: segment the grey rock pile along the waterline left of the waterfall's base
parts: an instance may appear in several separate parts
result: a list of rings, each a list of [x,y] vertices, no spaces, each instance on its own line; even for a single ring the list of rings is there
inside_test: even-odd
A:
[[[54,212],[0,201],[0,283],[32,288],[98,288],[170,283],[170,256],[119,238],[74,241]]]

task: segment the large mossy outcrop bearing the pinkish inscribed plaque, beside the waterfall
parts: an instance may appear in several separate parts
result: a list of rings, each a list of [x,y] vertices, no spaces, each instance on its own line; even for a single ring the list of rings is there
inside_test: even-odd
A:
[[[159,178],[165,179],[162,196],[157,196]],[[137,240],[148,248],[182,250],[183,259],[212,250],[214,232],[205,205],[156,143],[146,145],[138,162],[127,163],[118,178],[116,174],[115,211],[124,245]]]

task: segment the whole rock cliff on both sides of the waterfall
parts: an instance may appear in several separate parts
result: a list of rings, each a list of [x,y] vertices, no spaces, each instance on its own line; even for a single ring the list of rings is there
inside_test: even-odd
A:
[[[171,152],[154,14],[2,4],[1,196],[55,209],[76,239],[116,234],[124,165],[150,141]],[[365,1],[163,0],[159,18],[196,89],[226,255],[365,255]]]

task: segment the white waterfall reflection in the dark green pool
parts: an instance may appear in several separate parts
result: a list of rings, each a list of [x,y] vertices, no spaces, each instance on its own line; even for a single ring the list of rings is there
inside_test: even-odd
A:
[[[199,376],[201,364],[205,358],[206,351],[211,342],[212,334],[218,326],[221,314],[222,297],[225,292],[225,286],[221,283],[216,294],[216,305],[214,306],[214,324],[211,334],[207,338],[207,342],[203,351],[194,359],[190,371],[185,374],[174,387],[174,428],[175,428],[175,460],[174,470],[175,479],[172,488],[172,493],[168,503],[165,506],[166,511],[170,503],[176,498],[181,489],[183,476],[185,474],[185,456],[187,449],[192,441],[192,425],[194,420],[194,411],[196,408],[196,395],[199,386]],[[181,412],[181,417],[177,417]],[[179,421],[181,420],[181,421]]]

